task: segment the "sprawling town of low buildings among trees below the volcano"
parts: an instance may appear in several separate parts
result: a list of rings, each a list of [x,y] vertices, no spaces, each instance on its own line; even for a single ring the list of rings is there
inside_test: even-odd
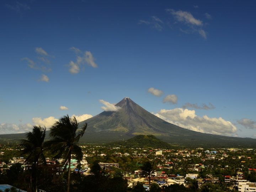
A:
[[[104,182],[112,183],[111,191],[148,191],[149,187],[150,191],[164,192],[256,191],[255,149],[200,146],[160,149],[113,145],[80,145],[80,148],[82,160],[78,162],[75,156],[71,159],[71,191],[86,191],[81,186],[87,191],[97,191],[96,188],[108,191],[110,186],[103,185]],[[19,156],[21,150],[17,145],[1,145],[0,184],[26,190],[30,185],[27,172],[31,164],[25,162],[25,156]],[[61,164],[64,159],[54,159],[50,153],[45,156],[48,168],[39,166],[38,189],[55,191],[54,187],[63,187],[60,178],[66,177],[61,174],[65,168]]]

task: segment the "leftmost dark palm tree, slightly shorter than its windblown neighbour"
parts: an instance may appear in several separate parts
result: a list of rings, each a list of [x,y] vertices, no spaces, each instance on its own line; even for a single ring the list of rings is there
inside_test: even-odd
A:
[[[26,134],[27,139],[21,139],[19,146],[23,148],[21,154],[28,154],[25,162],[32,163],[31,178],[35,181],[35,189],[37,189],[37,170],[38,163],[42,161],[46,164],[43,154],[43,142],[46,135],[46,128],[41,126],[33,126],[32,132]]]

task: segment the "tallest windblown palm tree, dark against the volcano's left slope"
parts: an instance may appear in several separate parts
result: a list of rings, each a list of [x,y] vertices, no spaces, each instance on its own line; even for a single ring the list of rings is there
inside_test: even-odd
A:
[[[49,140],[47,145],[50,146],[51,151],[56,154],[56,158],[60,158],[64,155],[64,167],[68,164],[68,192],[70,190],[71,154],[75,155],[78,162],[82,159],[82,150],[77,143],[84,135],[86,127],[87,123],[78,130],[76,118],[70,118],[66,115],[55,122],[50,128],[50,137],[52,137],[52,140]]]

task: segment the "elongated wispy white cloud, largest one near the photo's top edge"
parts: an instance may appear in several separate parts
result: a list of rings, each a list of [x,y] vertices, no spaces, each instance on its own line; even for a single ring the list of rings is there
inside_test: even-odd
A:
[[[187,24],[201,26],[203,22],[199,19],[194,18],[194,16],[187,11],[175,11],[174,9],[166,9],[166,11],[175,16],[178,21],[185,22]]]

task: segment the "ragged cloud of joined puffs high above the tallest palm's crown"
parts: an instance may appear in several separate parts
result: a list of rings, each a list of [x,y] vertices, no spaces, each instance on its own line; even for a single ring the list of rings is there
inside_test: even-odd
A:
[[[93,68],[97,68],[97,64],[95,63],[95,58],[93,57],[90,51],[86,51],[82,53],[82,51],[76,47],[71,47],[70,50],[76,53],[76,62],[69,62],[69,72],[72,74],[76,74],[80,72],[80,66],[87,64],[92,66]]]

